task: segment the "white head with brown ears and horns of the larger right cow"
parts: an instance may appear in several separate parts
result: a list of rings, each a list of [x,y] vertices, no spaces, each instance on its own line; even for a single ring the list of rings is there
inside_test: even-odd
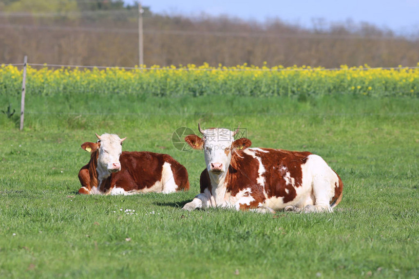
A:
[[[202,138],[197,135],[189,135],[185,141],[193,149],[204,149],[207,170],[213,175],[225,174],[229,169],[232,152],[236,149],[248,148],[251,145],[247,138],[234,140],[234,135],[239,131],[239,128],[235,131],[224,128],[202,130],[198,124],[198,130],[203,134]]]

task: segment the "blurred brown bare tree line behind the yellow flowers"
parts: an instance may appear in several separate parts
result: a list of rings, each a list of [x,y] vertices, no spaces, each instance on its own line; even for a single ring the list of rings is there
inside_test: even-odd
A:
[[[0,2],[0,63],[138,65],[138,9],[123,1]],[[310,29],[281,19],[160,15],[144,7],[144,63],[234,66],[416,66],[419,36],[368,23],[313,20]]]

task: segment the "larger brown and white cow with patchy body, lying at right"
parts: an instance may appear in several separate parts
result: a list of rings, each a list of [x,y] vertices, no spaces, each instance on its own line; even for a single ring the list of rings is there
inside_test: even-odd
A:
[[[249,148],[236,131],[202,130],[188,135],[193,149],[204,149],[207,168],[201,173],[201,193],[183,209],[233,207],[275,212],[331,212],[342,199],[343,183],[324,160],[310,152]]]

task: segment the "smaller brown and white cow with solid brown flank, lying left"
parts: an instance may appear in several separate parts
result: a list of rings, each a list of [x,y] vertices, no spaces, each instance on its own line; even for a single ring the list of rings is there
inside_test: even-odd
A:
[[[78,172],[80,194],[130,195],[189,189],[186,168],[170,155],[122,152],[126,138],[108,133],[96,136],[97,142],[81,145],[90,152],[90,162]]]

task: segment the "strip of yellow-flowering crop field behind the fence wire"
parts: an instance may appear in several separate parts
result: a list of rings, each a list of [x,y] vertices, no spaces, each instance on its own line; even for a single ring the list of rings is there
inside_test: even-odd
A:
[[[19,93],[22,70],[0,66],[0,94]],[[147,68],[41,68],[28,67],[27,93],[290,96],[296,94],[363,94],[370,96],[419,96],[419,63],[415,68],[339,69],[188,64]]]

